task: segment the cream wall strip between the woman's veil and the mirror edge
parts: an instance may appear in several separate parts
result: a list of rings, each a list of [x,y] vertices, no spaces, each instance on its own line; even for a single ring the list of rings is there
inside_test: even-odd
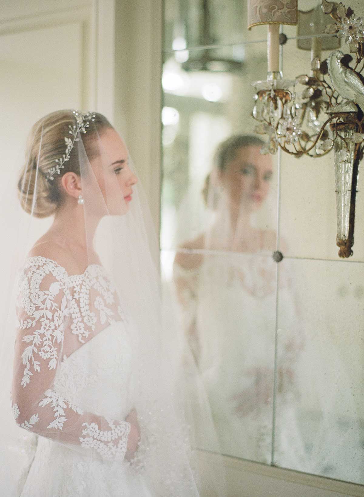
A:
[[[159,234],[162,0],[122,0],[116,12],[115,123],[125,136]]]

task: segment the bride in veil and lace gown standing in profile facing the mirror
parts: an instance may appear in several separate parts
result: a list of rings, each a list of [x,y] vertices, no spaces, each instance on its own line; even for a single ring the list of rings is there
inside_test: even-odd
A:
[[[6,495],[199,495],[158,248],[125,143],[99,113],[52,112],[31,130],[17,189],[27,214],[13,257]]]

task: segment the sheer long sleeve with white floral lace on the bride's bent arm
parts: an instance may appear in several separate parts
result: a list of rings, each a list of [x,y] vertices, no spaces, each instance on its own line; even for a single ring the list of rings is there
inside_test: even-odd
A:
[[[12,412],[21,428],[107,460],[124,459],[130,423],[84,411],[54,388],[65,334],[75,316],[67,273],[30,267],[18,279]],[[72,324],[71,324],[72,323]],[[65,333],[66,332],[66,333]]]

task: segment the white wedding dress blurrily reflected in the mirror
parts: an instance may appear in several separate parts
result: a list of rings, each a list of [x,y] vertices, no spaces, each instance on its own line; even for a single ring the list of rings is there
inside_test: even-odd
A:
[[[205,254],[193,269],[174,264],[183,323],[204,379],[225,454],[272,462],[276,263],[271,254]],[[274,460],[309,470],[296,412],[294,368],[302,334],[283,269],[278,334]],[[239,406],[242,410],[239,410]]]

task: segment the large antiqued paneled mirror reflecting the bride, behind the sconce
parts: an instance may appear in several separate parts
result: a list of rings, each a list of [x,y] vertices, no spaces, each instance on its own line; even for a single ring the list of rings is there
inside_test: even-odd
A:
[[[354,257],[342,261],[332,156],[260,153],[251,83],[266,78],[266,28],[247,31],[245,2],[209,1],[214,48],[201,48],[205,3],[165,1],[165,283],[222,452],[364,484],[364,199]],[[309,71],[295,39],[282,55],[284,77]]]

